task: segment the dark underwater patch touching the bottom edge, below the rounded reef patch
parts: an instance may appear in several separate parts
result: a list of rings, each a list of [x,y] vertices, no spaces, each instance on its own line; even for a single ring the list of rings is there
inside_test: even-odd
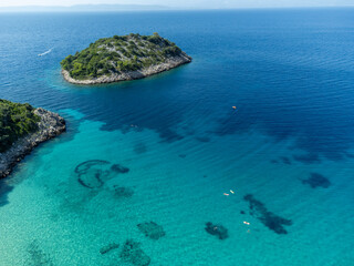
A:
[[[133,239],[125,242],[119,256],[124,262],[136,266],[147,266],[150,264],[150,258],[140,248],[140,243]]]

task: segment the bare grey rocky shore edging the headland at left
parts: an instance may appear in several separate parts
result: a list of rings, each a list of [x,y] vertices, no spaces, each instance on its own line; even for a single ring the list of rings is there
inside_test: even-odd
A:
[[[41,121],[38,122],[39,130],[18,140],[8,151],[0,153],[0,178],[8,176],[15,164],[40,143],[53,139],[66,130],[64,119],[56,113],[39,108],[34,110],[34,114],[41,117]]]

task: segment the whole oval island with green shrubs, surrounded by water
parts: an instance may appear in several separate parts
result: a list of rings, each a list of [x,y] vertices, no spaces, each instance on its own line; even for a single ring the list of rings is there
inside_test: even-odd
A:
[[[66,57],[61,65],[64,79],[71,83],[100,84],[143,79],[189,62],[189,55],[158,33],[131,33],[100,39]]]

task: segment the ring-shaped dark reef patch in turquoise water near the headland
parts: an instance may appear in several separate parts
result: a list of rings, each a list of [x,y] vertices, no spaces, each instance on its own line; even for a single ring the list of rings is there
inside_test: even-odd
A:
[[[119,164],[111,165],[111,162],[104,160],[85,161],[75,167],[77,182],[87,188],[100,188],[110,176],[128,172],[129,168]]]

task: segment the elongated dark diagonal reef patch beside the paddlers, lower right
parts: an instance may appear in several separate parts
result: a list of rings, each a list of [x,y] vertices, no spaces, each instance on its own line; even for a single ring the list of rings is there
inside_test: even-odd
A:
[[[288,234],[284,225],[292,225],[291,219],[280,217],[267,209],[263,203],[257,201],[253,195],[248,194],[243,197],[250,204],[250,214],[258,218],[263,225],[277,234]]]

